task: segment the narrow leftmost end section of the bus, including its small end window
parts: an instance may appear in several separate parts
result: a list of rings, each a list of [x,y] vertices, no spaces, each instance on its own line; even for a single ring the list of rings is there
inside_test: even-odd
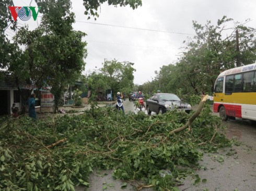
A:
[[[218,112],[219,105],[224,102],[224,77],[220,77],[216,80],[213,100],[213,111]]]

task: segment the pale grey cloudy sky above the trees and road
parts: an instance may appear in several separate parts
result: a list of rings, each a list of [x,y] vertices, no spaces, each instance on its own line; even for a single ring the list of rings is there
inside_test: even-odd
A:
[[[28,6],[31,0],[14,0],[15,6]],[[72,0],[76,15],[74,30],[87,34],[86,70],[94,71],[104,59],[134,63],[134,83],[143,84],[155,77],[163,65],[179,58],[182,42],[195,34],[192,21],[205,24],[210,20],[216,26],[224,15],[235,21],[252,21],[247,26],[256,28],[255,0],[142,0],[142,6],[133,10],[127,7],[101,5],[99,18],[87,20],[83,0]],[[37,6],[34,1],[32,6]],[[37,21],[21,21],[34,29]],[[233,22],[232,22],[233,23]],[[7,30],[12,36],[12,32]],[[97,67],[97,68],[96,68]]]

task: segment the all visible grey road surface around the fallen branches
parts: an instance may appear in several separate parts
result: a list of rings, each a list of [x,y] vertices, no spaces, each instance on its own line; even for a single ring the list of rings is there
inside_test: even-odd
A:
[[[124,101],[125,112],[137,112],[133,102]],[[146,113],[146,111],[144,110]],[[155,113],[152,113],[155,114]],[[216,113],[213,113],[216,114]],[[235,137],[242,144],[232,148],[220,150],[218,154],[205,154],[201,166],[205,170],[197,171],[201,179],[206,179],[206,183],[193,185],[194,179],[188,177],[184,180],[184,185],[180,190],[195,191],[255,191],[256,190],[256,125],[248,120],[230,120],[223,122],[227,126],[226,135],[229,138]],[[126,189],[121,189],[121,181],[113,180],[112,171],[94,172],[90,176],[90,187],[88,191],[99,191],[103,188],[108,191],[133,190],[128,185]],[[76,188],[76,191],[84,190],[83,187]],[[147,188],[144,191],[153,189]]]

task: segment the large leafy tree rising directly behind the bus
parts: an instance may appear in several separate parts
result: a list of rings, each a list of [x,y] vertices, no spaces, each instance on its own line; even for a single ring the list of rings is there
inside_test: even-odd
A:
[[[248,65],[256,59],[256,30],[245,26],[250,20],[245,23],[235,22],[234,27],[227,28],[225,25],[232,20],[224,16],[216,26],[211,21],[207,21],[205,26],[193,21],[196,36],[187,43],[188,52],[184,53],[183,59],[195,70],[200,70],[194,74],[200,75],[201,81],[205,80],[212,86],[220,71],[241,64]]]

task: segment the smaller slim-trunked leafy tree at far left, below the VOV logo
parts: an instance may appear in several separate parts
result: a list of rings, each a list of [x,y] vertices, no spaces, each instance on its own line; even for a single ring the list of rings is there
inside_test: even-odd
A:
[[[24,45],[25,50],[18,48],[15,57],[9,61],[8,71],[11,72],[13,82],[16,84],[22,99],[21,112],[25,113],[25,103],[28,99],[28,94],[24,93],[26,85],[31,85],[30,93],[33,86],[41,88],[45,80],[45,66],[43,57],[39,51],[39,42],[43,31],[36,29],[29,31],[27,27],[21,28],[14,37],[14,44]],[[14,55],[14,54],[13,54]]]

